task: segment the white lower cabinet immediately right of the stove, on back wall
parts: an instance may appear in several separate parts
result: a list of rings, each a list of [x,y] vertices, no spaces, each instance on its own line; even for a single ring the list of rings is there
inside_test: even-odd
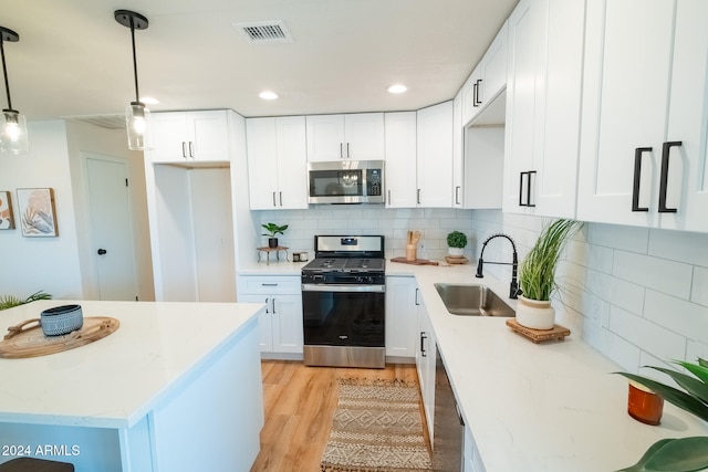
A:
[[[386,277],[386,356],[416,356],[418,307],[416,281],[410,276]]]

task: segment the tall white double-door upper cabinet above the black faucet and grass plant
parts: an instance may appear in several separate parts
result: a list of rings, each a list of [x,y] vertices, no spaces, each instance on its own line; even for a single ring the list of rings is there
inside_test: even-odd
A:
[[[584,0],[522,0],[508,20],[502,208],[575,217]]]

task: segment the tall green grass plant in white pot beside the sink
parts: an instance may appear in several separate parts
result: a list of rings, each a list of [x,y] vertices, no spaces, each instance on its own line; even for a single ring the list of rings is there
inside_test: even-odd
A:
[[[519,265],[521,295],[517,303],[517,322],[533,329],[552,329],[555,308],[551,295],[558,289],[555,269],[568,240],[581,222],[560,219],[545,227],[535,244]]]

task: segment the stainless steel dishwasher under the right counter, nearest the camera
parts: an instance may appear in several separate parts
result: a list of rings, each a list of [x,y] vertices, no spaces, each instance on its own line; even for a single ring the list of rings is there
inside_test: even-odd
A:
[[[436,346],[437,347],[437,346]],[[460,472],[465,444],[465,422],[457,408],[455,392],[436,348],[435,413],[433,415],[433,471]]]

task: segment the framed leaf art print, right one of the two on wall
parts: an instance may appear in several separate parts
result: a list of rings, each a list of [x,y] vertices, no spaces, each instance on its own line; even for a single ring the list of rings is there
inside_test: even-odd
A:
[[[18,189],[18,209],[23,237],[53,238],[59,234],[51,188]]]

